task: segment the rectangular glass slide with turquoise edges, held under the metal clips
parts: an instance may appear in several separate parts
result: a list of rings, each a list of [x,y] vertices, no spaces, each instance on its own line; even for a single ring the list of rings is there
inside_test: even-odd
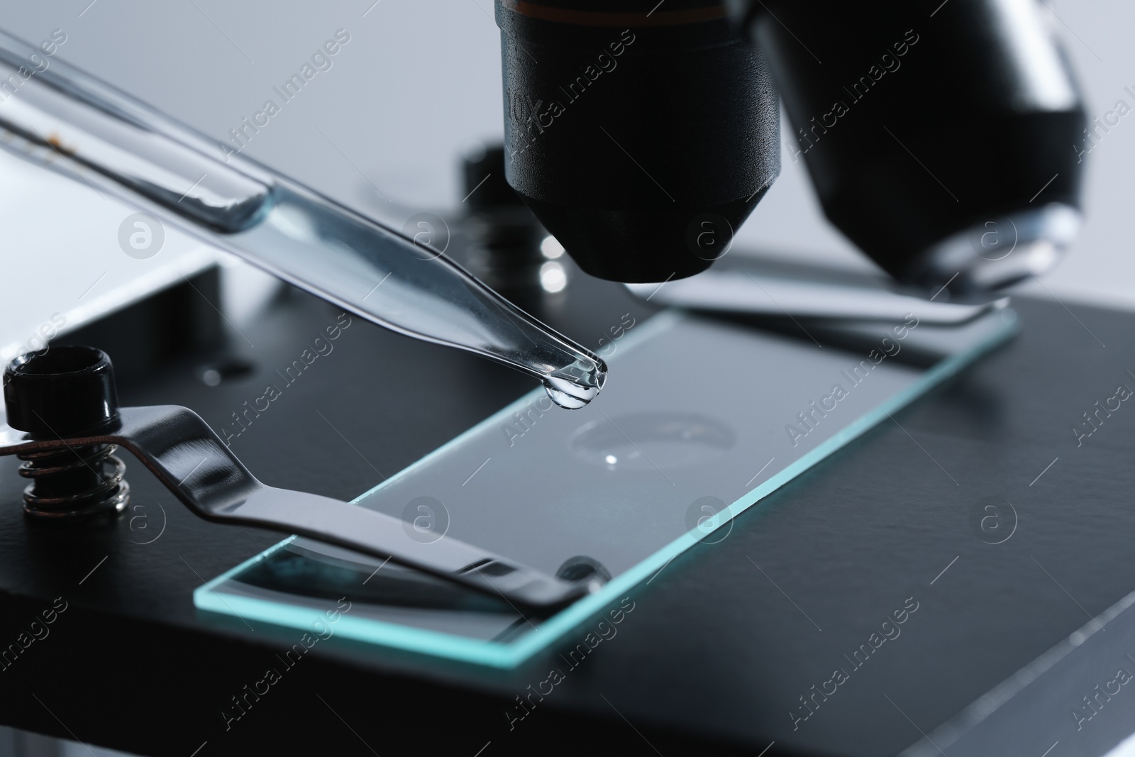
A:
[[[515,667],[698,541],[759,529],[759,507],[732,519],[1008,339],[1015,321],[1000,310],[961,327],[915,313],[809,328],[818,347],[665,311],[613,343],[607,386],[587,407],[554,407],[533,389],[355,499],[400,516],[409,538],[448,533],[548,573],[609,575],[550,617],[296,537],[200,587],[194,603],[306,630],[346,597],[336,636]]]

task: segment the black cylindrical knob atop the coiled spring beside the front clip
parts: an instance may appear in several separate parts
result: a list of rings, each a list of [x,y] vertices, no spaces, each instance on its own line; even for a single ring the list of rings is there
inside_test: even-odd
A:
[[[118,421],[115,371],[107,353],[61,345],[16,358],[3,372],[8,424],[36,437],[98,432]]]

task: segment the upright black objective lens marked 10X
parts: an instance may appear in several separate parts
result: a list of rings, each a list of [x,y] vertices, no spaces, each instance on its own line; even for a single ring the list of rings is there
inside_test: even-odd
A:
[[[588,274],[708,268],[780,173],[776,93],[721,0],[497,0],[508,183]]]

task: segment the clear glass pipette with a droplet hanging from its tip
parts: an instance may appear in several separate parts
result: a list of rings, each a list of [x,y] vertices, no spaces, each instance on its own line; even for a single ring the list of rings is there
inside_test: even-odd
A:
[[[190,146],[200,142],[192,134],[175,138],[187,134],[178,125],[62,64],[5,104],[0,131],[14,138],[2,146],[20,157],[62,171],[43,137],[61,135],[67,167],[87,184],[142,197],[163,219],[380,326],[533,375],[562,407],[582,407],[603,387],[598,356],[448,258],[421,255],[405,237],[262,166],[218,161]]]

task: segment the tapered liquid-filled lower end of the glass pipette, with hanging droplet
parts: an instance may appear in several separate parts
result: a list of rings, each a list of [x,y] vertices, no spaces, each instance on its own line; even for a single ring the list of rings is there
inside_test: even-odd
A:
[[[422,255],[387,229],[291,188],[275,187],[269,202],[260,222],[222,237],[229,249],[380,326],[533,373],[560,407],[583,407],[603,388],[607,368],[599,358],[452,260]],[[306,266],[312,259],[321,264]]]

